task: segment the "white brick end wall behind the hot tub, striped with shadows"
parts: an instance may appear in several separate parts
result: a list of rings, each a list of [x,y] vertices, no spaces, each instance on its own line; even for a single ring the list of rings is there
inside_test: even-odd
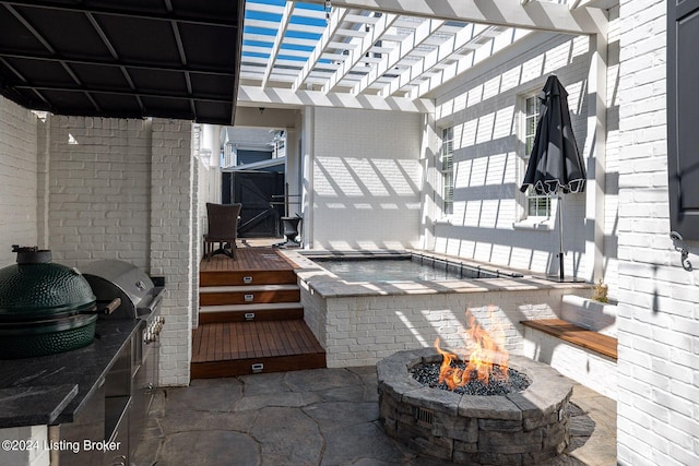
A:
[[[417,113],[316,109],[313,248],[419,246],[420,121]]]

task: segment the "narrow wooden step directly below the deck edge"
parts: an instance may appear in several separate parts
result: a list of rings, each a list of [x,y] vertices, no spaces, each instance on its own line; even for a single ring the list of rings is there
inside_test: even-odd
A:
[[[209,286],[199,288],[200,306],[299,302],[297,285]]]

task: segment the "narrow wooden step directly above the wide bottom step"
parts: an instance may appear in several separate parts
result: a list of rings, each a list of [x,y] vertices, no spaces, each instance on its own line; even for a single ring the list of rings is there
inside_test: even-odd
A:
[[[199,309],[200,324],[289,319],[304,319],[304,307],[299,302],[202,306]]]

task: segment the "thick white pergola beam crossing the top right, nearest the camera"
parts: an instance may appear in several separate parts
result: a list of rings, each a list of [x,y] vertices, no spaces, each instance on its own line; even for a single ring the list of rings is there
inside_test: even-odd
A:
[[[306,0],[323,3],[323,0]],[[375,10],[387,13],[467,23],[490,24],[568,34],[606,33],[607,19],[597,8],[517,0],[332,0],[333,8]]]

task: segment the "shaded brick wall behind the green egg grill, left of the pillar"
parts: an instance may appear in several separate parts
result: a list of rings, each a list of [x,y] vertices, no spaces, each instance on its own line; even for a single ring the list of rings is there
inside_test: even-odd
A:
[[[48,229],[54,260],[119,259],[147,270],[150,120],[50,117]]]

